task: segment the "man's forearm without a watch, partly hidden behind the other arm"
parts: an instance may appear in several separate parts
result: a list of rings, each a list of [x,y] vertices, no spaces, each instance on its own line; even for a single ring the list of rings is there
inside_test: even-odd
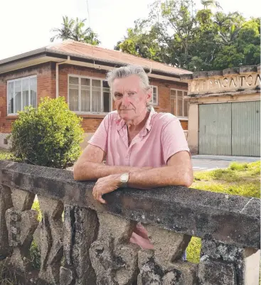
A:
[[[96,181],[99,178],[110,176],[112,174],[121,174],[125,172],[144,171],[151,167],[132,167],[132,166],[107,166],[103,163],[86,162],[76,166],[73,170],[73,176],[77,181]]]

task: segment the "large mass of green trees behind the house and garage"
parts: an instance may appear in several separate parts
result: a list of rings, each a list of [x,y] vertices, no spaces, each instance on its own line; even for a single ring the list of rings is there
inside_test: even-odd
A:
[[[218,1],[156,0],[115,49],[191,71],[260,63],[260,19],[225,14]],[[217,12],[213,12],[217,8]]]

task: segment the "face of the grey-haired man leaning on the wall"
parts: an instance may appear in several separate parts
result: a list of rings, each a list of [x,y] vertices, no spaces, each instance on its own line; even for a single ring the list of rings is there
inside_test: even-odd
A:
[[[151,99],[150,92],[142,88],[137,75],[117,78],[112,83],[115,107],[119,117],[124,121],[137,119],[147,109],[147,102]]]

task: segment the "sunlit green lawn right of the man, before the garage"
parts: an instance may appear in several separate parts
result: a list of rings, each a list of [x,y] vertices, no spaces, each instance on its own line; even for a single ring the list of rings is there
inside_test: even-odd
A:
[[[196,172],[191,188],[260,198],[260,161],[233,162],[225,169]],[[192,237],[187,249],[188,261],[198,263],[200,252],[201,239]]]

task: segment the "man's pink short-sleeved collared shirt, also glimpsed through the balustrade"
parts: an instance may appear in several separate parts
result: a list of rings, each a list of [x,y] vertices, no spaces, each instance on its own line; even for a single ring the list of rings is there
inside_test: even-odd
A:
[[[153,168],[166,166],[168,159],[179,151],[188,151],[188,144],[179,122],[173,114],[157,113],[151,108],[144,128],[128,146],[127,125],[117,111],[110,112],[95,131],[89,144],[100,147],[106,153],[109,166],[134,166]],[[142,225],[137,226],[147,236]],[[135,232],[131,242],[151,248],[149,239]]]

